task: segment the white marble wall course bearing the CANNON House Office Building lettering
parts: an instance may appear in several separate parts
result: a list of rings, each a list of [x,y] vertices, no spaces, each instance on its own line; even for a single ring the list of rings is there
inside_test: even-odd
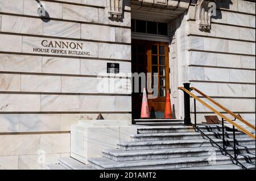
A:
[[[76,41],[76,43],[83,44],[82,52],[89,52],[89,54],[68,54],[68,53],[56,53],[52,50],[56,48],[49,48],[49,52],[38,52],[34,48],[45,48],[42,46],[42,41],[47,40],[50,42],[61,41],[61,39],[50,39],[45,37],[32,37],[32,36],[18,36],[18,35],[5,35],[0,34],[0,49],[2,52],[15,52],[15,53],[30,53],[30,54],[45,54],[55,56],[72,56],[72,57],[89,57],[89,58],[106,58],[113,60],[131,60],[131,46],[124,44],[109,44],[109,43],[94,43],[89,41]],[[9,41],[8,44],[5,44]],[[73,40],[69,40],[72,43]],[[122,51],[117,51],[121,49]],[[73,50],[63,48],[61,50]]]

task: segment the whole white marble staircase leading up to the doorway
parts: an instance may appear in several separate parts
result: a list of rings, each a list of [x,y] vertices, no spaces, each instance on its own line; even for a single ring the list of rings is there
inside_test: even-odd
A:
[[[222,145],[221,125],[199,125],[214,142]],[[88,165],[73,158],[61,158],[59,165],[47,169],[242,169],[228,155],[224,155],[211,140],[184,125],[141,126],[131,141],[118,142],[117,149],[102,150],[103,157],[88,158]],[[233,132],[225,130],[228,146],[233,154]],[[247,169],[255,169],[255,140],[236,132],[238,159]]]

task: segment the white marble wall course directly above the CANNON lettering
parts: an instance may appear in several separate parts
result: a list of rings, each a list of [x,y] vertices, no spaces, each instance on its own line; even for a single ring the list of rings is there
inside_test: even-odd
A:
[[[28,18],[14,15],[2,15],[1,24],[1,32],[120,43],[131,42],[130,28],[75,23],[62,20],[50,20],[49,22],[43,22],[38,18]]]

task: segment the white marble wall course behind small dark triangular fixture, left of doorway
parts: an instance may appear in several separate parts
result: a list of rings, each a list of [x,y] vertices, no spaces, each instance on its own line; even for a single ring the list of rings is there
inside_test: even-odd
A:
[[[79,120],[95,120],[97,113],[1,114],[0,132],[69,132]],[[108,120],[131,120],[129,113],[102,113]]]

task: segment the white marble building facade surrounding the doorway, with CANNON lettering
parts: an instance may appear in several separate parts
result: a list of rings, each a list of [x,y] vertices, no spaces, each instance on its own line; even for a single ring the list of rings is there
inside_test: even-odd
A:
[[[98,113],[131,123],[131,86],[105,94],[96,85],[107,62],[119,64],[115,76],[129,85],[131,39],[151,38],[131,33],[132,18],[169,25],[168,39],[154,39],[170,43],[177,117],[177,87],[191,82],[255,124],[255,1],[216,2],[207,22],[196,11],[200,2],[206,1],[0,0],[0,169],[57,163],[70,155],[71,125]],[[199,119],[210,114],[197,106]]]

